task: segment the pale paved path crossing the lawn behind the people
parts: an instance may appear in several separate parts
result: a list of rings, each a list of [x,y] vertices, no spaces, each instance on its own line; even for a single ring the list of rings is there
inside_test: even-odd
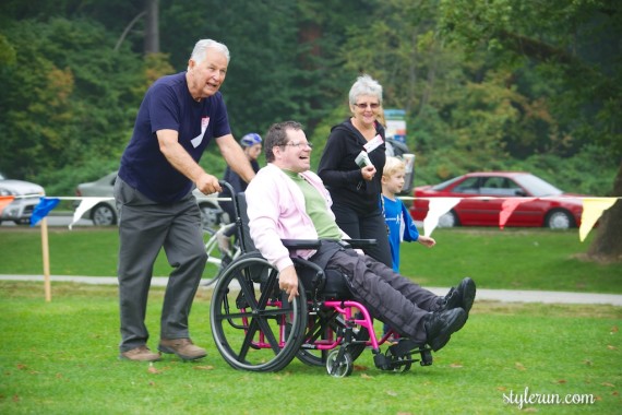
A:
[[[40,281],[43,275],[0,275],[0,281]],[[117,285],[115,276],[69,276],[51,275],[51,283],[75,282],[83,284]],[[156,276],[152,280],[154,286],[165,286],[166,276]],[[427,287],[438,295],[445,295],[448,288]],[[478,289],[478,300],[491,300],[503,303],[545,303],[545,304],[605,304],[622,306],[622,295],[617,294],[591,294],[591,293],[564,293],[541,290],[513,290],[513,289]]]

